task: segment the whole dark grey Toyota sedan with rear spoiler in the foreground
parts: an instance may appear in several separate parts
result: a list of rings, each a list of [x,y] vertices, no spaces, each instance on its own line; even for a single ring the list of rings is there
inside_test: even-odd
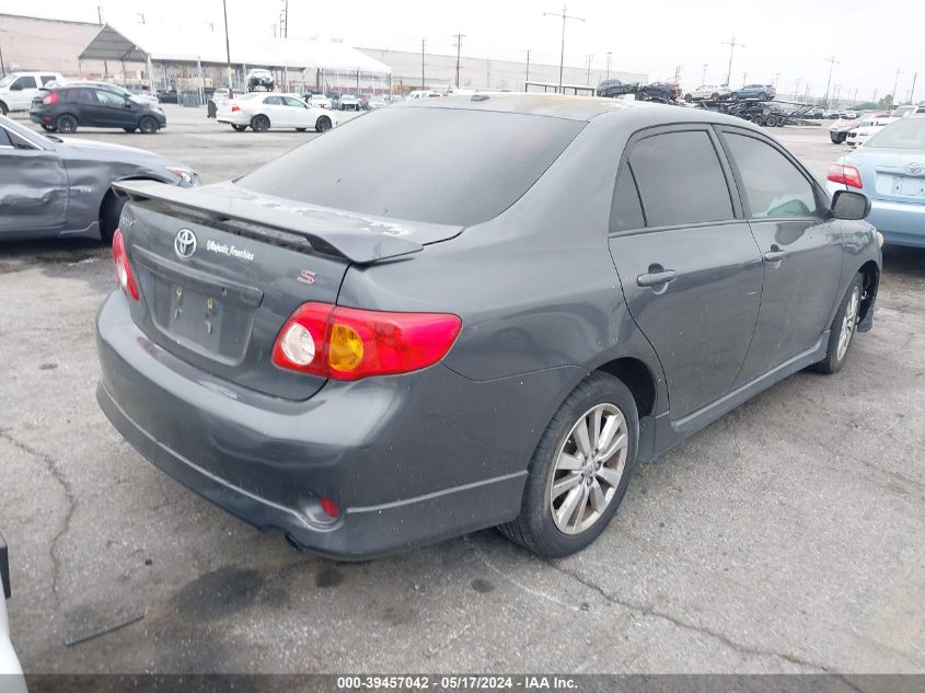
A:
[[[234,182],[117,188],[103,412],[350,559],[492,525],[582,548],[637,460],[837,371],[880,276],[864,195],[749,123],[635,101],[419,100]]]

